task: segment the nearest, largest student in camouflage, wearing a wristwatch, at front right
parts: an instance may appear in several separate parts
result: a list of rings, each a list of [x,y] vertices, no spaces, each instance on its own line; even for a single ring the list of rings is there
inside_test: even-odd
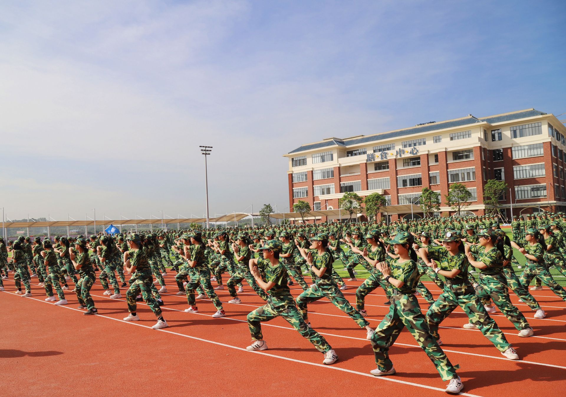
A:
[[[375,363],[378,366],[371,371],[371,374],[384,376],[395,373],[388,351],[401,330],[406,327],[435,365],[442,380],[450,381],[446,391],[460,392],[464,385],[456,374],[457,366],[452,365],[436,339],[429,333],[426,318],[414,295],[420,275],[417,253],[413,249],[413,236],[408,232],[401,232],[388,243],[394,247],[398,259],[391,264],[391,267],[385,261],[378,263],[377,267],[383,274],[385,282],[395,288],[396,293],[391,295],[389,313],[379,323],[371,338]]]

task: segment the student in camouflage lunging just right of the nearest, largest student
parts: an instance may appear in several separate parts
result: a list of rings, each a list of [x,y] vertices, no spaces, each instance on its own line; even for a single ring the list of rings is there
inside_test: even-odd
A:
[[[464,255],[460,235],[456,231],[447,232],[443,238],[443,247],[426,246],[419,249],[424,263],[445,278],[444,291],[426,314],[428,329],[431,335],[440,342],[438,328],[440,323],[458,306],[470,319],[469,324],[479,328],[483,336],[489,339],[502,355],[511,360],[519,356],[496,322],[488,315],[483,304],[475,295],[474,288],[468,280],[468,259]],[[465,326],[465,328],[470,328]]]

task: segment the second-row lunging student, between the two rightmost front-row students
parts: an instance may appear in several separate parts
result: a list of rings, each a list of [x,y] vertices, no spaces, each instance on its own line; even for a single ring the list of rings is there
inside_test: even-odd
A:
[[[327,298],[338,309],[349,315],[360,328],[365,328],[367,330],[367,339],[370,339],[371,335],[374,334],[370,323],[351,306],[346,298],[344,298],[344,295],[342,295],[340,289],[338,289],[338,286],[332,279],[332,257],[326,251],[328,241],[325,237],[325,235],[319,234],[311,238],[310,249],[316,251],[307,252],[307,250],[301,248],[303,258],[307,260],[307,263],[311,266],[311,272],[315,274],[315,284],[306,291],[303,291],[301,295],[297,296],[297,307],[301,311],[305,322],[310,324],[308,321],[307,305],[316,300]]]

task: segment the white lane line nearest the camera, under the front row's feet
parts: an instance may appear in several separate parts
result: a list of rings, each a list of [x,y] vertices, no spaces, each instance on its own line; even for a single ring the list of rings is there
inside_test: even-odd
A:
[[[4,291],[8,294],[10,294],[8,291]],[[43,302],[43,303],[49,303],[49,302],[45,302],[45,300],[39,300],[36,298],[31,298],[29,297],[28,299],[33,299],[36,300],[37,302]],[[51,305],[54,306],[54,305]],[[80,309],[75,309],[72,307],[67,307],[67,306],[61,306],[64,307],[66,309],[70,309],[70,310],[75,310],[78,312],[83,312]],[[104,316],[104,315],[96,315],[98,317],[104,317],[105,319],[109,319],[109,320],[114,320],[114,321],[119,321],[119,322],[124,322],[128,325],[136,325],[136,326],[140,326],[143,328],[147,328],[147,329],[152,329],[151,326],[149,325],[143,325],[143,324],[136,324],[135,322],[132,321],[125,321],[125,320],[120,320],[120,319],[114,319],[114,317],[109,317],[109,316]],[[152,329],[153,330],[153,329]],[[275,354],[270,354],[270,353],[265,353],[263,351],[248,351],[243,347],[239,347],[239,346],[232,346],[231,344],[226,344],[226,343],[221,343],[221,342],[216,342],[216,341],[210,341],[209,339],[203,339],[203,338],[198,338],[198,337],[192,337],[191,335],[186,335],[186,334],[180,334],[178,332],[174,332],[174,331],[169,331],[166,329],[159,329],[157,331],[161,331],[161,332],[165,332],[168,334],[172,334],[172,335],[177,335],[179,337],[184,337],[184,338],[190,338],[190,339],[195,339],[196,341],[200,341],[200,342],[207,342],[207,343],[212,343],[212,344],[217,344],[218,346],[223,346],[223,347],[228,347],[228,348],[233,348],[235,350],[240,350],[240,351],[245,351],[248,353],[254,353],[254,354],[260,354],[263,356],[268,356],[268,357],[273,357],[276,359],[281,359],[281,360],[287,360],[287,361],[294,361],[295,363],[301,363],[301,364],[307,364],[307,365],[314,365],[315,367],[320,367],[320,368],[325,368],[325,369],[333,369],[333,370],[338,370],[338,371],[342,371],[342,372],[348,372],[348,373],[353,373],[353,374],[357,374],[357,375],[361,375],[361,376],[365,376],[365,377],[370,377],[372,379],[376,379],[376,380],[381,380],[381,381],[388,381],[388,382],[395,382],[395,383],[401,383],[403,385],[410,385],[410,386],[416,386],[416,387],[422,387],[423,389],[429,389],[429,390],[436,390],[436,391],[441,391],[444,392],[444,389],[440,389],[440,387],[433,387],[433,386],[427,386],[427,385],[421,385],[419,383],[413,383],[413,382],[407,382],[407,381],[402,381],[401,379],[395,379],[395,378],[387,378],[387,377],[375,377],[372,374],[369,373],[364,373],[364,372],[359,372],[359,371],[355,371],[355,370],[351,370],[351,369],[346,369],[346,368],[340,368],[340,367],[331,367],[330,365],[324,365],[324,364],[318,364],[318,363],[311,363],[310,361],[303,361],[303,360],[297,360],[297,359],[291,359],[290,357],[283,357],[283,356],[278,356]],[[480,397],[478,395],[475,394],[469,394],[469,393],[460,393],[460,395],[463,396],[469,396],[469,397]]]

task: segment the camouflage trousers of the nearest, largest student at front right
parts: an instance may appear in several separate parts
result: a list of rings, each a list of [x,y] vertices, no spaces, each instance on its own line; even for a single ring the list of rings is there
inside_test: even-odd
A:
[[[436,339],[432,337],[417,298],[409,294],[391,296],[389,313],[381,320],[371,338],[375,364],[380,370],[387,371],[393,368],[393,363],[389,359],[389,347],[395,343],[404,327],[409,330],[432,364],[435,365],[443,381],[457,376],[458,366],[452,365]]]

